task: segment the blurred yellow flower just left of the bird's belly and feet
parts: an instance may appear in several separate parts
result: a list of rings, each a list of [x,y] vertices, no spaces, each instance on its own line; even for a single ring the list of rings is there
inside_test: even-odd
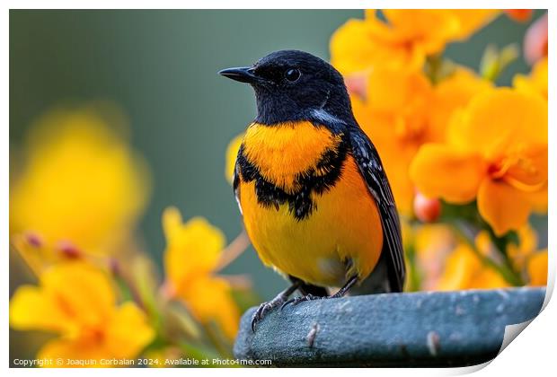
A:
[[[240,314],[229,283],[216,276],[225,236],[201,217],[182,223],[173,207],[163,214],[167,285],[202,323],[216,321],[229,338],[238,330]]]

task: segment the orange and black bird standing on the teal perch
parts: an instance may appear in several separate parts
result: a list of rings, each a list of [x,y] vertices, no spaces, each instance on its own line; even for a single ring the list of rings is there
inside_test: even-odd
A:
[[[220,75],[249,83],[257,117],[234,169],[234,193],[261,261],[292,282],[252,318],[288,303],[337,298],[362,285],[401,292],[399,216],[385,169],[352,114],[342,75],[282,50]],[[326,287],[340,286],[329,295]],[[301,297],[288,300],[296,289]]]

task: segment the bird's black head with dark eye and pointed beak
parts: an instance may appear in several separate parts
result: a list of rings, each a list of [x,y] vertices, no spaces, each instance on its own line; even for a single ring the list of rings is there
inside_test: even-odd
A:
[[[258,123],[310,120],[340,127],[353,120],[340,73],[304,51],[275,51],[253,66],[228,68],[219,74],[252,85]]]

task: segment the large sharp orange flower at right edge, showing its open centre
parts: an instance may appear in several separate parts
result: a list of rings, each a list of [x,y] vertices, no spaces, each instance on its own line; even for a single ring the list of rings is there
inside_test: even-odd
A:
[[[452,118],[447,144],[427,144],[411,180],[427,197],[464,204],[498,235],[526,224],[533,196],[547,183],[547,102],[500,88],[473,98]]]

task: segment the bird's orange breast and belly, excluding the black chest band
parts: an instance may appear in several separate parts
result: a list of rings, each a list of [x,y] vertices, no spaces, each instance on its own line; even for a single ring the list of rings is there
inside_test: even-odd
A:
[[[266,265],[314,285],[342,285],[353,274],[366,277],[383,245],[379,211],[357,163],[349,152],[331,152],[340,151],[342,143],[340,135],[309,122],[252,124],[243,140],[244,158],[259,173],[250,180],[239,174],[243,222],[253,246]],[[305,190],[305,182],[332,174],[323,164],[327,153],[338,157],[338,177],[324,189]],[[304,179],[308,171],[313,180]],[[258,179],[287,198],[263,205]],[[312,209],[300,218],[292,203],[296,206],[303,192]]]

